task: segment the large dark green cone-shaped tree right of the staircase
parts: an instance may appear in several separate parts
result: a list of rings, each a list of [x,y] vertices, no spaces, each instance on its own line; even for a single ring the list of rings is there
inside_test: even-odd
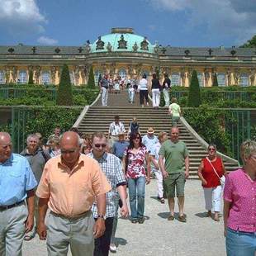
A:
[[[201,90],[197,78],[197,71],[193,70],[188,90],[187,107],[199,107],[201,105]]]

